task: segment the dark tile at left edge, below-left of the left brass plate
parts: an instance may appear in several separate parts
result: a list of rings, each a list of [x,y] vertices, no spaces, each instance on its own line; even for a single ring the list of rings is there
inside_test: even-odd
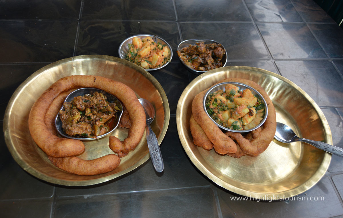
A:
[[[3,137],[0,142],[0,200],[52,197],[54,186],[24,171],[12,158]]]

